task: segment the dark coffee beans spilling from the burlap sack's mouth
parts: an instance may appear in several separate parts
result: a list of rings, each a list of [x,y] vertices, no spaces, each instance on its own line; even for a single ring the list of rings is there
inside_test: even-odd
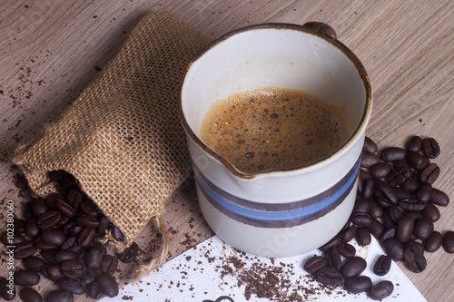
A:
[[[22,259],[25,269],[14,272],[15,286],[22,287],[19,297],[25,302],[40,302],[43,297],[33,288],[41,277],[60,288],[45,296],[47,302],[73,301],[74,295],[115,297],[118,284],[113,277],[118,260],[131,262],[138,254],[135,243],[122,254],[110,255],[97,238],[110,232],[114,239],[124,241],[116,228],[97,208],[93,200],[80,190],[74,177],[64,171],[49,174],[57,183],[58,193],[44,199],[31,193],[25,203],[24,219],[15,218],[15,234],[11,242],[6,233],[1,241],[15,246],[15,259]],[[26,183],[16,186],[26,189]],[[0,278],[0,297],[15,298],[8,293],[6,278]]]

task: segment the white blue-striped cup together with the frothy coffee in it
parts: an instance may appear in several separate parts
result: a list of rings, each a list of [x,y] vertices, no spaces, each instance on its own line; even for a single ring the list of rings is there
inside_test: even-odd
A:
[[[329,241],[353,209],[371,106],[364,67],[326,24],[252,25],[210,44],[179,112],[212,230],[265,257]]]

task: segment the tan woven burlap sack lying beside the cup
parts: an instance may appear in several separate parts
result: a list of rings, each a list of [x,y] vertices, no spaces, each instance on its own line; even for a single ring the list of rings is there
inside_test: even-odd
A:
[[[128,247],[190,172],[179,86],[209,42],[164,11],[143,17],[94,83],[42,136],[15,151],[30,188],[45,196],[55,190],[48,171],[73,174],[126,238],[104,242]]]

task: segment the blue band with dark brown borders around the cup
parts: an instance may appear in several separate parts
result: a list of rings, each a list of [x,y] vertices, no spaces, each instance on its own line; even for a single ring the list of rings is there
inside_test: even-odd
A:
[[[360,170],[360,159],[330,189],[307,200],[287,203],[243,200],[212,184],[195,166],[193,170],[203,196],[226,216],[261,228],[289,228],[318,219],[339,206],[355,184]]]

